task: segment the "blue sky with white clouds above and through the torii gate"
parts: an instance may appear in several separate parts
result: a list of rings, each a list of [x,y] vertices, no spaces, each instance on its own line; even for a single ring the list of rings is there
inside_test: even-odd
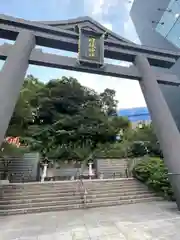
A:
[[[36,21],[56,21],[91,16],[122,37],[138,42],[136,31],[129,18],[131,5],[132,0],[0,0],[0,13]],[[4,40],[1,40],[0,44],[3,42]],[[55,50],[44,48],[43,51],[51,53]],[[63,51],[58,51],[58,54],[74,55]],[[111,62],[113,63],[113,61]],[[3,61],[0,61],[0,69],[2,65]],[[105,88],[115,89],[119,108],[146,105],[136,81],[36,66],[29,66],[27,74],[33,74],[44,82],[61,76],[73,76],[81,84],[93,88],[97,92],[101,92]]]

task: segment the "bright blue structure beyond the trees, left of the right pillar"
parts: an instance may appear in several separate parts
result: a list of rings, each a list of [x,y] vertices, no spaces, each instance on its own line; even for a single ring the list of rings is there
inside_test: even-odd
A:
[[[118,111],[119,116],[128,117],[131,122],[150,120],[147,107],[127,108]]]

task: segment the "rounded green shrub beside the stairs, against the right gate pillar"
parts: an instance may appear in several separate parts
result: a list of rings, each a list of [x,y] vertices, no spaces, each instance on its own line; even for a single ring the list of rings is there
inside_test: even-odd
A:
[[[134,167],[133,175],[164,197],[174,200],[168,169],[162,159],[144,158]]]

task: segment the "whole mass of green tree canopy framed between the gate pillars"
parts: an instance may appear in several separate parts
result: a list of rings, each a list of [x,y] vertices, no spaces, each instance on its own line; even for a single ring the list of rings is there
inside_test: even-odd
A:
[[[117,115],[117,103],[112,89],[98,94],[72,77],[43,84],[29,75],[7,135],[20,136],[22,144],[49,156],[80,159],[129,128],[128,119]]]

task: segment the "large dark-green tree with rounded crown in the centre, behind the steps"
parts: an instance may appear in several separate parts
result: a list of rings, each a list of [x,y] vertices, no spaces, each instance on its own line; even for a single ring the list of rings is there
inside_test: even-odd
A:
[[[31,105],[37,112],[24,141],[57,157],[77,157],[79,148],[93,151],[99,143],[114,141],[119,130],[129,125],[127,119],[109,117],[102,96],[71,77],[49,81]]]

